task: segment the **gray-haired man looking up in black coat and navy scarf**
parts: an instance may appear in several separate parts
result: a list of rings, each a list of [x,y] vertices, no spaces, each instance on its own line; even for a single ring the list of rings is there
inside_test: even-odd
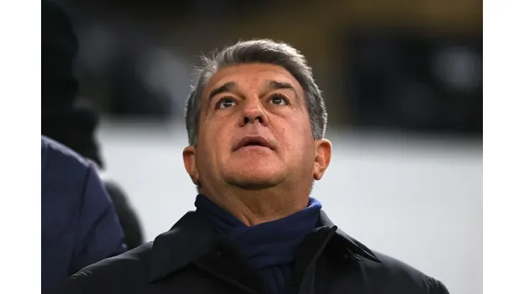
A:
[[[83,269],[63,293],[448,293],[343,233],[309,197],[331,143],[324,100],[296,49],[254,40],[203,60],[183,151],[196,211]]]

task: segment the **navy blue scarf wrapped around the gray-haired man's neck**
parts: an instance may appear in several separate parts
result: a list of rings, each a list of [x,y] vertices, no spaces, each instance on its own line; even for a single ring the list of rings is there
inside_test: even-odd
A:
[[[197,196],[195,206],[196,212],[232,241],[239,254],[258,270],[271,293],[286,293],[295,250],[317,227],[322,207],[317,199],[310,198],[302,211],[249,227],[204,195]]]

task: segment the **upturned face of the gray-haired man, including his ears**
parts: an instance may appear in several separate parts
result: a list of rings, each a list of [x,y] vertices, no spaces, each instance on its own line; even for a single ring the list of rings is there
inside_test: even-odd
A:
[[[319,144],[325,153],[327,142],[331,154],[329,141],[320,141],[312,137],[304,91],[291,73],[242,64],[220,69],[207,83],[198,143],[186,148],[184,162],[203,187],[267,189],[292,179],[310,184]]]

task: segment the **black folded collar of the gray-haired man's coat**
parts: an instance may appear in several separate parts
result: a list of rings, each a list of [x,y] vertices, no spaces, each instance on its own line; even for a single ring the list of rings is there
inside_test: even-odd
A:
[[[322,210],[319,225],[336,230],[332,241],[343,245],[348,254],[382,262],[368,247],[336,227]],[[173,225],[171,230],[154,239],[149,261],[148,281],[152,283],[165,278],[194,261],[205,253],[216,236],[215,231],[194,211],[186,213]]]

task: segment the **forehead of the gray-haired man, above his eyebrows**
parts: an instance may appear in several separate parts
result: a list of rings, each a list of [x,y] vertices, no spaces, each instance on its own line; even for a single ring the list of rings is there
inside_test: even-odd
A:
[[[239,64],[219,69],[204,88],[204,96],[210,90],[227,82],[235,82],[240,88],[259,88],[268,80],[290,83],[303,96],[303,89],[297,79],[282,66],[274,64]]]

